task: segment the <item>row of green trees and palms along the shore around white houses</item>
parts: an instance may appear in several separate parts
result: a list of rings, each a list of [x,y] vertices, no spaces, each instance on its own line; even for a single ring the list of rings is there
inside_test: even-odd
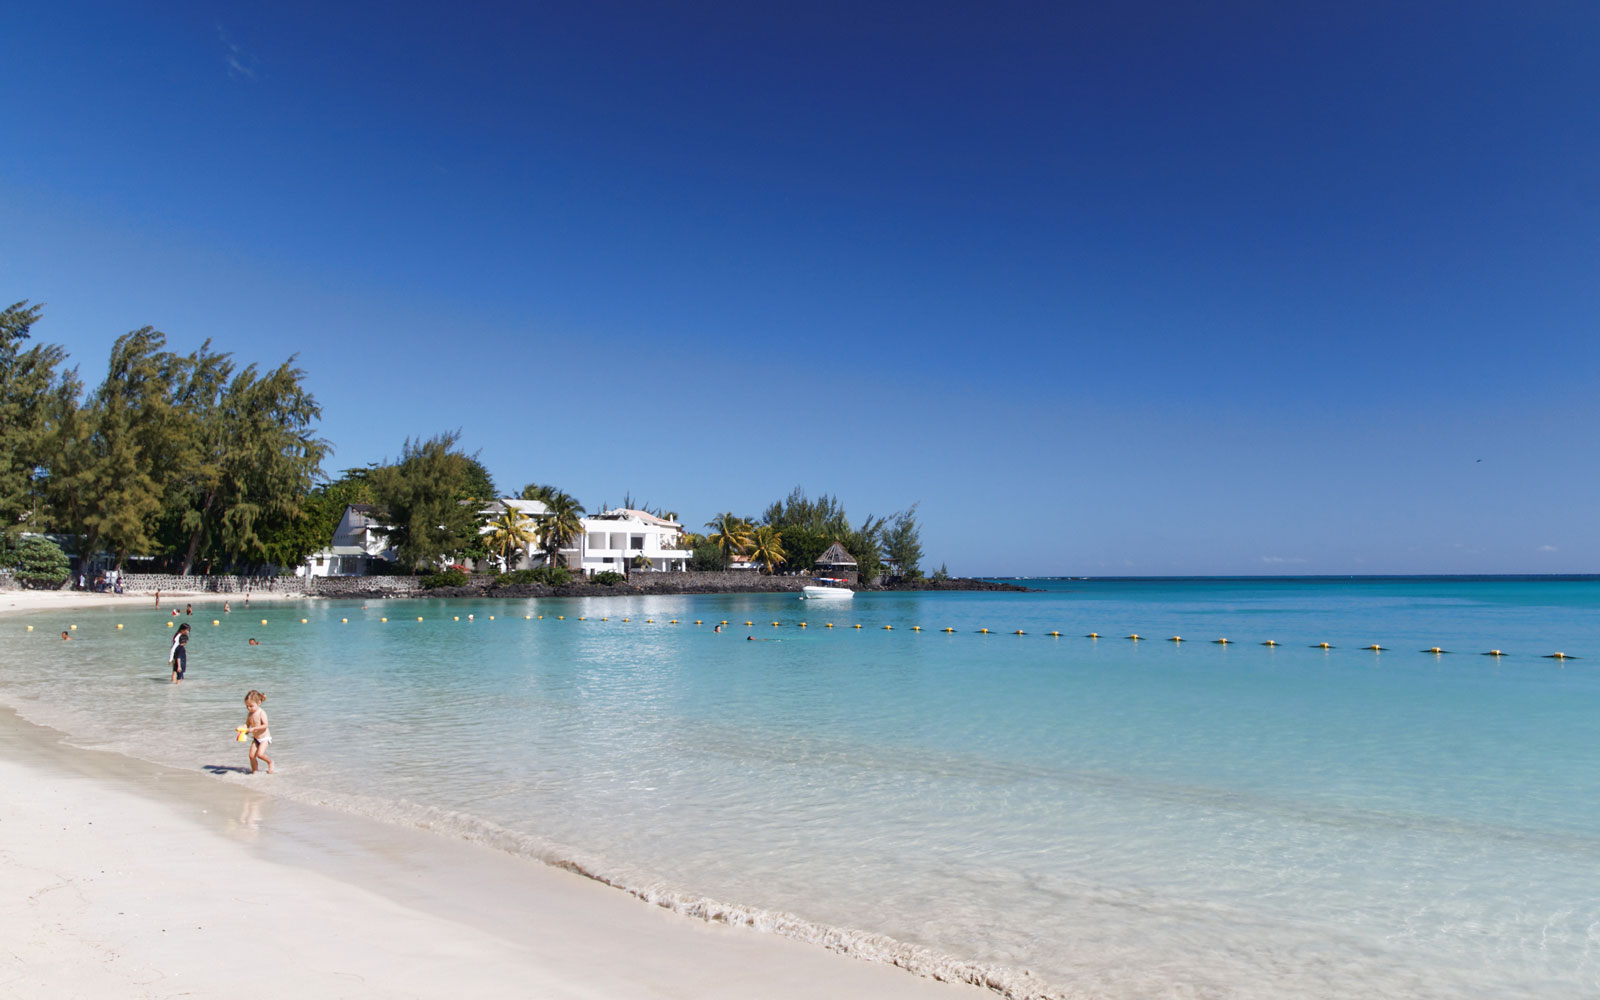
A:
[[[27,301],[0,310],[0,574],[24,586],[61,586],[69,558],[80,573],[283,579],[330,544],[357,504],[374,512],[392,552],[373,571],[421,574],[438,592],[472,587],[469,570],[485,565],[515,578],[485,594],[613,594],[627,590],[608,584],[637,587],[653,576],[574,578],[562,552],[582,533],[586,509],[549,483],[514,494],[539,501],[538,518],[485,514],[485,502],[507,494],[461,448],[459,432],[408,437],[398,459],[328,477],[334,448],[317,432],[322,406],[294,357],[270,368],[240,363],[210,341],[182,354],[142,326],[117,338],[104,378],[88,387],[62,347],[32,339],[42,318],[43,307]],[[678,518],[632,496],[621,507]],[[989,589],[950,579],[944,566],[923,574],[915,502],[853,520],[838,498],[811,499],[797,486],[760,515],[720,512],[682,544],[690,571],[749,566],[782,579],[811,573],[840,544],[867,589]],[[789,587],[752,579],[738,589]]]

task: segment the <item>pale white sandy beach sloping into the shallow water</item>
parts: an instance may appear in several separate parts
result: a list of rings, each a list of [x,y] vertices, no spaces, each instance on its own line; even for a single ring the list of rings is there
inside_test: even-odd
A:
[[[5,592],[0,614],[122,602],[149,597]],[[0,995],[987,995],[270,781],[67,746],[0,709]]]

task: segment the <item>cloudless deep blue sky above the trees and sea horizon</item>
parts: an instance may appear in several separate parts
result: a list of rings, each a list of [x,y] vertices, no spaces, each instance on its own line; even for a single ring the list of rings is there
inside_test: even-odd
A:
[[[1600,6],[54,3],[0,294],[298,354],[330,470],[958,573],[1600,571]],[[1480,461],[1482,459],[1482,461]]]

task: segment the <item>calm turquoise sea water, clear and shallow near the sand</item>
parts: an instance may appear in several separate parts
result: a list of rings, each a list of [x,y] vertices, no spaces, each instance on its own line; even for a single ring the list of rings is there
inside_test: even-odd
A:
[[[1600,995],[1600,579],[1026,582],[200,602],[178,690],[130,602],[0,701],[234,766],[261,688],[280,794],[1019,997]]]

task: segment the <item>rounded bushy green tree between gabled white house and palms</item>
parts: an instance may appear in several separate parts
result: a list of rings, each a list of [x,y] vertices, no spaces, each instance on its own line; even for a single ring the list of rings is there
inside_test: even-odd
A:
[[[378,520],[389,526],[389,541],[406,566],[426,566],[478,539],[477,506],[461,502],[478,483],[474,459],[456,450],[459,440],[459,432],[426,442],[406,438],[398,462],[366,475]]]

